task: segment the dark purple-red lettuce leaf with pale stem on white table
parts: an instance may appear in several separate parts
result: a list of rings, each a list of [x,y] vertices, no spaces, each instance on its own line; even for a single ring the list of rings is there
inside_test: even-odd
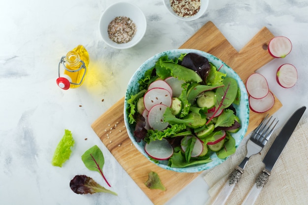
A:
[[[98,192],[105,192],[118,196],[117,193],[110,191],[99,185],[89,176],[77,175],[69,183],[69,186],[76,194],[94,194]]]

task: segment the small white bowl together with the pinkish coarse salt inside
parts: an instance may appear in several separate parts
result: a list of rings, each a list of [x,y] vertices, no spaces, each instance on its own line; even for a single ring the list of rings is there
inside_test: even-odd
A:
[[[143,38],[147,21],[142,10],[130,2],[110,5],[100,17],[99,31],[104,42],[116,49],[135,46]]]

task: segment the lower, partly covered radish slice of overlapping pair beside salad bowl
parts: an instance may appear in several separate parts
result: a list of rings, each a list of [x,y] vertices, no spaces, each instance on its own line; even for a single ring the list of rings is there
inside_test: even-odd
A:
[[[250,109],[255,113],[264,113],[270,110],[275,103],[275,98],[271,91],[261,99],[255,99],[249,96],[248,100]]]

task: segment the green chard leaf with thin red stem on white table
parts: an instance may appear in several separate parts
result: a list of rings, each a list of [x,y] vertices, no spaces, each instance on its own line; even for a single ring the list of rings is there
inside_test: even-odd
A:
[[[90,149],[88,149],[81,156],[81,159],[89,170],[99,172],[100,175],[103,176],[103,178],[105,179],[108,186],[110,186],[103,174],[103,166],[105,163],[105,159],[102,151],[98,148],[98,146],[94,145]]]

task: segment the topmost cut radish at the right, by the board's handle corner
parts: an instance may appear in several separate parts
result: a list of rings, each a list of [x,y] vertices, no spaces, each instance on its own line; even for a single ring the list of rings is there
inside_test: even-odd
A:
[[[292,43],[290,39],[284,36],[276,36],[270,40],[268,51],[274,58],[284,58],[292,50]]]

